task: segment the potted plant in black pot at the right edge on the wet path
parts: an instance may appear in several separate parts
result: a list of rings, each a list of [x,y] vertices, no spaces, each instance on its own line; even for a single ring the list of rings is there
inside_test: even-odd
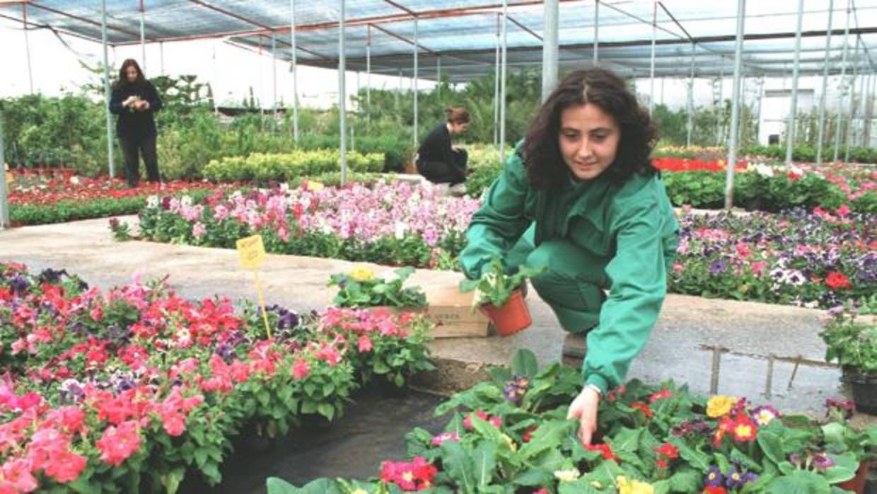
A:
[[[852,387],[852,401],[861,412],[877,415],[877,297],[859,311],[849,304],[829,311],[824,331],[825,360],[838,360],[843,379]],[[859,315],[865,315],[859,318]]]

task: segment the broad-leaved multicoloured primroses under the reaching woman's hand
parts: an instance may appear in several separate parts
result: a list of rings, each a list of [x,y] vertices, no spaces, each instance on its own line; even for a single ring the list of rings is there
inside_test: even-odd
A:
[[[439,405],[437,415],[454,412],[443,432],[409,433],[410,461],[382,462],[367,482],[320,479],[303,491],[829,492],[877,453],[877,426],[847,426],[846,403],[830,400],[821,424],[744,397],[706,400],[672,382],[637,381],[601,400],[595,440],[582,447],[577,421],[566,419],[581,375],[556,363],[537,371],[532,354],[516,357],[493,382]],[[268,482],[269,494],[302,491],[289,487]]]

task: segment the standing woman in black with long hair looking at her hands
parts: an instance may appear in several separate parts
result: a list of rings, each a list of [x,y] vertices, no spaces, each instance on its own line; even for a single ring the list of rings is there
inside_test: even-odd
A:
[[[155,152],[155,118],[161,109],[158,91],[146,80],[137,61],[122,62],[118,81],[113,84],[110,111],[118,115],[116,135],[125,155],[125,178],[130,187],[140,180],[140,159],[146,164],[146,179],[159,182],[158,156]]]

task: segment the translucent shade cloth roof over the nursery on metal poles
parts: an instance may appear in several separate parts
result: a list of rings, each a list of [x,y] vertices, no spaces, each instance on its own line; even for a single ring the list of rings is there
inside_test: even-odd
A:
[[[804,3],[800,71],[822,74],[831,0]],[[243,47],[271,50],[291,60],[289,0],[107,0],[108,43],[140,42],[141,6],[146,42],[225,38]],[[795,57],[797,0],[748,2],[744,44],[745,75],[791,75]],[[877,0],[850,2],[847,72],[871,72],[877,59]],[[847,0],[835,0],[830,70],[838,73],[844,47]],[[652,10],[657,22],[652,26]],[[346,68],[365,71],[367,47],[375,74],[414,73],[413,40],[417,23],[418,77],[439,74],[464,82],[492,73],[502,4],[485,0],[346,0]],[[0,0],[0,17],[29,28],[51,27],[82,38],[101,40],[100,0]],[[542,63],[542,2],[510,0],[507,25],[510,68]],[[338,0],[296,0],[296,59],[305,65],[337,68]],[[417,21],[415,21],[417,18]],[[737,2],[733,0],[601,0],[600,64],[625,75],[648,76],[652,30],[655,74],[688,76],[692,45],[695,76],[731,75]],[[560,0],[560,69],[592,63],[595,0]],[[858,54],[855,50],[859,41]],[[39,54],[34,54],[39,56]]]

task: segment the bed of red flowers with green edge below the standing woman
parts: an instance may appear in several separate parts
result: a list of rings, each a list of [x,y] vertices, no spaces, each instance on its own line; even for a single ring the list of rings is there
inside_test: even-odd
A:
[[[203,196],[210,183],[172,181],[139,183],[129,188],[124,180],[74,175],[72,170],[49,174],[18,172],[10,185],[10,218],[17,225],[44,225],[75,219],[133,214],[153,194],[189,193]]]

